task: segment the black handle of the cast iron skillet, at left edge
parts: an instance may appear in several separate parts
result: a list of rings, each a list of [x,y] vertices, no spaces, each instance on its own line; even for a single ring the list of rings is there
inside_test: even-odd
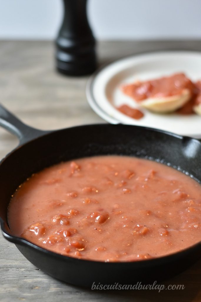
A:
[[[0,104],[0,126],[13,133],[19,139],[19,145],[27,143],[50,131],[43,131],[25,125]]]

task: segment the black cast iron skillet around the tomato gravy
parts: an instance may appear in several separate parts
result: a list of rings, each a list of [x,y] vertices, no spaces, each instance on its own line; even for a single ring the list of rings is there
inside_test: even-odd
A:
[[[201,142],[150,128],[97,124],[58,131],[26,126],[0,106],[0,125],[17,135],[20,144],[0,164],[0,221],[4,237],[47,274],[62,281],[92,286],[134,284],[169,278],[200,257],[201,244],[172,255],[139,262],[98,262],[71,258],[42,249],[12,236],[7,208],[15,189],[32,173],[45,167],[84,156],[121,154],[157,160],[186,172],[201,182]]]

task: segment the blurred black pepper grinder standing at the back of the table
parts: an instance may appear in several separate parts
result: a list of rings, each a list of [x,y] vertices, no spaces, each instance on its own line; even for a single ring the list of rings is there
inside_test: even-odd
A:
[[[56,67],[69,76],[96,69],[95,38],[86,14],[87,0],[63,0],[64,19],[56,39]]]

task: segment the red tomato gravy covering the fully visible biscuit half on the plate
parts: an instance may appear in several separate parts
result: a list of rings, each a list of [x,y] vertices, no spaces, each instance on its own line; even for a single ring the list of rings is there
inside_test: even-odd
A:
[[[122,86],[122,91],[136,101],[142,101],[146,98],[177,95],[180,94],[183,89],[189,89],[190,92],[194,90],[193,83],[184,73],[176,73],[172,76],[144,82],[139,81]]]

